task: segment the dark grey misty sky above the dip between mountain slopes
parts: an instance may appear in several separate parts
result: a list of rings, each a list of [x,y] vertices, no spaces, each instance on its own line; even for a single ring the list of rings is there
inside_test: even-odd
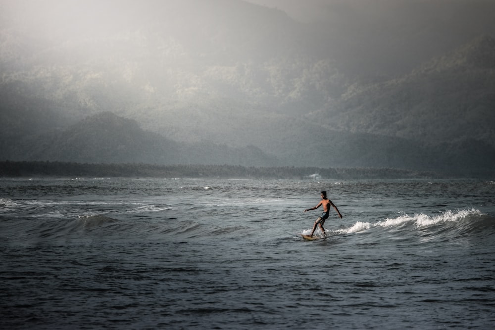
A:
[[[495,36],[493,0],[249,0],[305,22],[313,53],[347,75],[395,77],[480,34]]]

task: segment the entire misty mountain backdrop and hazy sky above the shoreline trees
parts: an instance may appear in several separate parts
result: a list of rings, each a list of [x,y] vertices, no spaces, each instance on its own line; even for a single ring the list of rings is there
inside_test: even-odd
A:
[[[495,3],[257,2],[2,0],[1,158],[494,173]]]

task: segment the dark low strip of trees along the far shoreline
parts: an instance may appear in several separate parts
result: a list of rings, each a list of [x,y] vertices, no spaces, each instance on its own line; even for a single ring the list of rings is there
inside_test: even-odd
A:
[[[149,177],[244,179],[438,178],[435,173],[389,168],[244,167],[232,165],[82,164],[0,162],[0,177]]]

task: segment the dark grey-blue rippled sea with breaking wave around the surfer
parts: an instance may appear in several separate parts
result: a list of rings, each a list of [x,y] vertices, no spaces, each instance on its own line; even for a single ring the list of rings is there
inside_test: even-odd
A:
[[[304,240],[321,190],[344,217]],[[474,180],[0,179],[0,329],[494,329],[494,205]]]

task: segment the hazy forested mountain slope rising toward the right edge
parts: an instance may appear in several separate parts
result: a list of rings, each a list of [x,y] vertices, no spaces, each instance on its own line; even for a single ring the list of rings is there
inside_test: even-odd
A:
[[[472,139],[495,146],[494,105],[495,41],[480,36],[403,77],[349,88],[333,107],[308,119],[425,143]]]

